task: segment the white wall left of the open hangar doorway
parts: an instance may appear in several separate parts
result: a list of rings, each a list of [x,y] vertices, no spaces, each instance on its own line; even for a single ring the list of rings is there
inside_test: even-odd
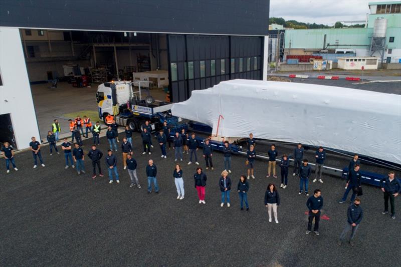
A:
[[[18,28],[0,27],[0,114],[11,115],[19,149],[39,140],[39,129]]]

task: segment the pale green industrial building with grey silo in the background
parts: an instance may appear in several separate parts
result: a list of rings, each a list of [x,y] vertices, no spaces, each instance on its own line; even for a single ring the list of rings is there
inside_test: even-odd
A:
[[[378,57],[380,63],[401,63],[401,1],[369,3],[369,9],[365,28],[287,29],[284,56],[314,55],[334,63],[343,56]]]

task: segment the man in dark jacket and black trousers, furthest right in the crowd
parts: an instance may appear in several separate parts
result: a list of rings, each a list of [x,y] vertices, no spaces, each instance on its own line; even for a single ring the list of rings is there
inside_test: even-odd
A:
[[[389,171],[388,176],[380,180],[381,191],[384,195],[384,211],[381,214],[388,213],[388,199],[390,199],[391,218],[393,219],[395,219],[394,197],[401,192],[401,183],[394,176],[394,171]]]

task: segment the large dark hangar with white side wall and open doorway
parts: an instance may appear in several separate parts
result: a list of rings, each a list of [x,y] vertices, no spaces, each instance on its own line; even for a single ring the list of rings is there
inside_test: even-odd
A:
[[[96,104],[98,83],[146,71],[165,79],[157,70],[168,73],[169,98],[178,102],[220,81],[262,80],[268,22],[269,1],[97,1],[96,12],[91,1],[2,1],[0,142],[23,149],[31,136],[45,136],[38,125],[61,118],[72,85],[93,93]],[[43,121],[31,86],[49,81],[59,87],[44,87],[53,118]]]

